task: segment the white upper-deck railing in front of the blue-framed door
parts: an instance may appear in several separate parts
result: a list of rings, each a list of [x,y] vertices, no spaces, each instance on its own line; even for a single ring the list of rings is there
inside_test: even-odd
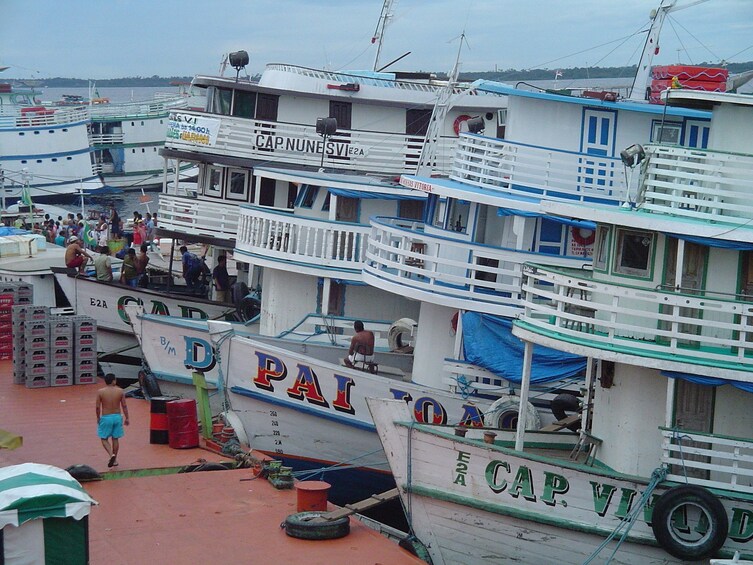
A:
[[[620,204],[637,192],[615,157],[461,134],[450,178],[504,194]]]

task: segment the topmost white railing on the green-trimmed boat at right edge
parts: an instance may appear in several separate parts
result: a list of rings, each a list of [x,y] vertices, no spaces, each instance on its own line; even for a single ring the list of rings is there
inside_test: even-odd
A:
[[[753,155],[655,145],[645,150],[641,209],[731,224],[753,219]]]

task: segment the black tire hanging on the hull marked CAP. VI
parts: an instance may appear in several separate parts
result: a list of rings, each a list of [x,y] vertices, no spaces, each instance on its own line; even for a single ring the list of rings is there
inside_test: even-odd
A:
[[[684,507],[684,508],[683,508]],[[688,519],[697,517],[698,525],[708,524],[705,532],[689,525],[688,531],[674,526],[676,512]],[[654,505],[651,529],[659,545],[678,559],[708,559],[724,545],[729,530],[727,511],[717,497],[702,487],[683,485],[665,492]]]

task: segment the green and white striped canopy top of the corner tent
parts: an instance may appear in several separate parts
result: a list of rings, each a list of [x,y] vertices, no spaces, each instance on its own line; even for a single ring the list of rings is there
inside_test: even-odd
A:
[[[91,498],[66,471],[24,463],[0,468],[0,529],[36,518],[74,518],[89,514]]]

